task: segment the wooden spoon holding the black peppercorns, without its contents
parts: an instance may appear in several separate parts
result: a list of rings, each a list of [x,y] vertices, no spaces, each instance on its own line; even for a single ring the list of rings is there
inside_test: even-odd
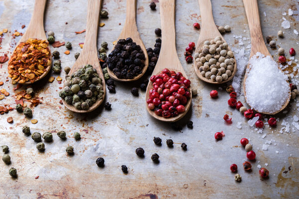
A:
[[[107,67],[108,69],[108,74],[110,77],[116,81],[120,82],[132,82],[135,80],[140,79],[147,71],[148,66],[149,66],[149,57],[148,57],[148,52],[146,49],[145,44],[143,43],[140,34],[137,30],[137,25],[136,25],[136,4],[137,0],[127,0],[127,13],[126,13],[126,22],[123,27],[123,30],[117,39],[127,39],[128,37],[131,37],[133,39],[133,42],[135,42],[137,45],[140,45],[141,49],[143,50],[146,60],[145,60],[145,67],[142,70],[142,73],[134,77],[133,79],[119,79],[114,75],[114,73]],[[114,49],[114,48],[113,48]]]

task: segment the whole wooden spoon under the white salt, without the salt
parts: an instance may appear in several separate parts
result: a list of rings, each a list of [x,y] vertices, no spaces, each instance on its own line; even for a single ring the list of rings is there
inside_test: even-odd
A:
[[[269,51],[268,51],[268,49],[265,45],[264,39],[263,39],[257,0],[243,0],[243,3],[244,3],[244,6],[245,6],[245,12],[246,12],[248,25],[249,25],[249,29],[250,29],[250,36],[251,36],[250,59],[257,52],[261,52],[265,56],[270,56],[272,58],[271,54],[269,53]],[[248,64],[247,69],[249,69],[249,68],[250,68],[250,66]],[[280,67],[279,67],[279,69],[281,70]],[[246,82],[246,79],[247,79],[247,74],[248,74],[248,70],[246,70],[246,74],[245,74],[244,82],[243,82],[244,96],[245,96],[246,102],[247,102],[247,98],[246,98],[245,82]],[[290,102],[290,99],[291,99],[291,88],[289,88],[289,98],[280,110],[278,110],[274,113],[269,113],[269,112],[261,112],[261,113],[271,114],[271,115],[276,114],[276,113],[280,112],[281,110],[283,110],[288,105],[288,103]],[[248,103],[248,105],[250,105],[250,104]],[[258,110],[256,110],[256,111],[259,112]]]

